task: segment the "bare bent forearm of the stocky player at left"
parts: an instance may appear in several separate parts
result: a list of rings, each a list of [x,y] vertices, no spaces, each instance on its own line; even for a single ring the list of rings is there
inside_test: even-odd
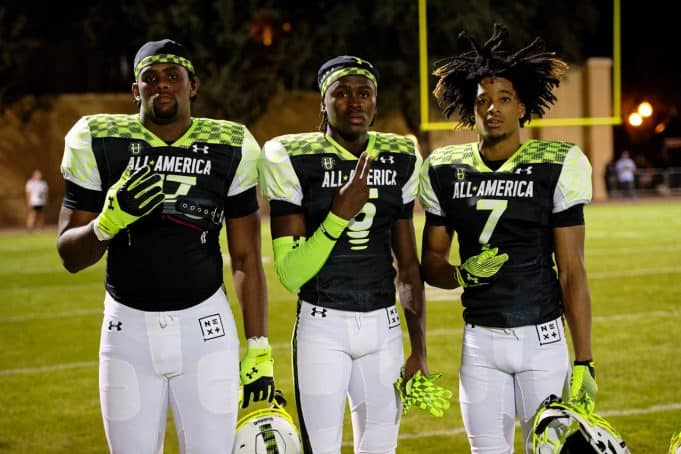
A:
[[[59,257],[64,268],[71,273],[97,263],[109,244],[108,241],[97,239],[92,230],[92,222],[64,230],[57,238]]]

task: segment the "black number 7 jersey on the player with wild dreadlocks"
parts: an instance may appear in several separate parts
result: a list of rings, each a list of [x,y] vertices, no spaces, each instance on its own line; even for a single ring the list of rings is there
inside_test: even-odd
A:
[[[530,140],[496,171],[477,143],[439,148],[424,162],[419,196],[427,222],[456,231],[461,263],[483,247],[509,255],[492,283],[464,289],[467,322],[515,327],[562,313],[553,216],[591,200],[591,166],[576,145]]]

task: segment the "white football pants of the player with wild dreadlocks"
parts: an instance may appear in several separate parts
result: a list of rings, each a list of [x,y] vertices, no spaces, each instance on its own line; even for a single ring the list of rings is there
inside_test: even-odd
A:
[[[549,394],[560,397],[569,370],[561,318],[506,329],[467,323],[459,405],[471,453],[512,453],[516,416],[531,453],[537,408]]]

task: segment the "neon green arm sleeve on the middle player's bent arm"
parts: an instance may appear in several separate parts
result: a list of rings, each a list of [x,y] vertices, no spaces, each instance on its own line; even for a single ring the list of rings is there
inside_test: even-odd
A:
[[[283,286],[296,292],[312,279],[326,263],[349,222],[329,212],[319,228],[307,239],[296,240],[292,236],[284,236],[272,240],[274,267]]]

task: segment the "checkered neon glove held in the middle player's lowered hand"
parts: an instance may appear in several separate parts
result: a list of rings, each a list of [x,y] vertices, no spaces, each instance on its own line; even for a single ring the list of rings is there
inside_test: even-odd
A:
[[[435,384],[435,380],[441,376],[442,374],[423,375],[417,370],[405,383],[402,369],[400,377],[395,382],[395,389],[402,401],[402,414],[406,415],[411,407],[418,407],[433,416],[443,416],[451,405],[449,399],[452,392]]]

